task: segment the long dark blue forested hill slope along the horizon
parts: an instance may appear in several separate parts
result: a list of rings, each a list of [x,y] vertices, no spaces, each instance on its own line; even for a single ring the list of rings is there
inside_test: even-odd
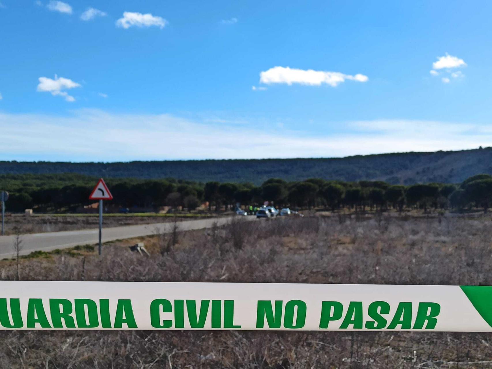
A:
[[[0,161],[0,174],[79,173],[97,177],[156,179],[172,177],[199,182],[384,180],[392,184],[458,183],[479,173],[492,174],[492,148],[358,155],[342,158],[132,161],[117,163]]]

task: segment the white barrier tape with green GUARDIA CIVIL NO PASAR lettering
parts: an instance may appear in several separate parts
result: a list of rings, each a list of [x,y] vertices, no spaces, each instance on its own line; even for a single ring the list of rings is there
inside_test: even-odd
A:
[[[492,331],[492,286],[0,281],[2,330]]]

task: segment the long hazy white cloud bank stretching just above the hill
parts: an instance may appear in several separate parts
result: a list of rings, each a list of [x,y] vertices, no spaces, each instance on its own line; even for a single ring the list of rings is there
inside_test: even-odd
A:
[[[344,125],[349,132],[308,133],[289,131],[285,126],[279,129],[276,124],[269,124],[267,129],[252,128],[249,124],[203,123],[168,114],[99,110],[80,110],[67,116],[0,113],[0,156],[4,160],[72,161],[335,157],[472,149],[492,142],[492,129],[486,125],[408,120]]]

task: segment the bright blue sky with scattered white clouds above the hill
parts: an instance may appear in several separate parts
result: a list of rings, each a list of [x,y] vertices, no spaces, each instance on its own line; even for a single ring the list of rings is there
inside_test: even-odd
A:
[[[491,2],[0,3],[3,160],[491,145]]]

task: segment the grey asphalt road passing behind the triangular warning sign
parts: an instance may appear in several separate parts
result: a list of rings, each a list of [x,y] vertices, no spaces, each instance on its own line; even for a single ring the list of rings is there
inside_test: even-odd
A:
[[[255,216],[245,216],[248,220],[256,219]],[[193,229],[210,228],[214,222],[218,225],[225,224],[231,217],[183,220],[178,222],[181,231],[190,231]],[[121,240],[124,238],[133,238],[148,236],[159,233],[169,233],[173,223],[154,223],[127,225],[123,227],[102,228],[102,242]],[[78,245],[94,245],[98,243],[98,228],[85,229],[79,231],[63,231],[50,233],[31,233],[21,235],[22,250],[21,255],[30,254],[32,251],[53,251],[57,248],[67,248]],[[13,245],[15,236],[0,236],[0,259],[13,257]]]

